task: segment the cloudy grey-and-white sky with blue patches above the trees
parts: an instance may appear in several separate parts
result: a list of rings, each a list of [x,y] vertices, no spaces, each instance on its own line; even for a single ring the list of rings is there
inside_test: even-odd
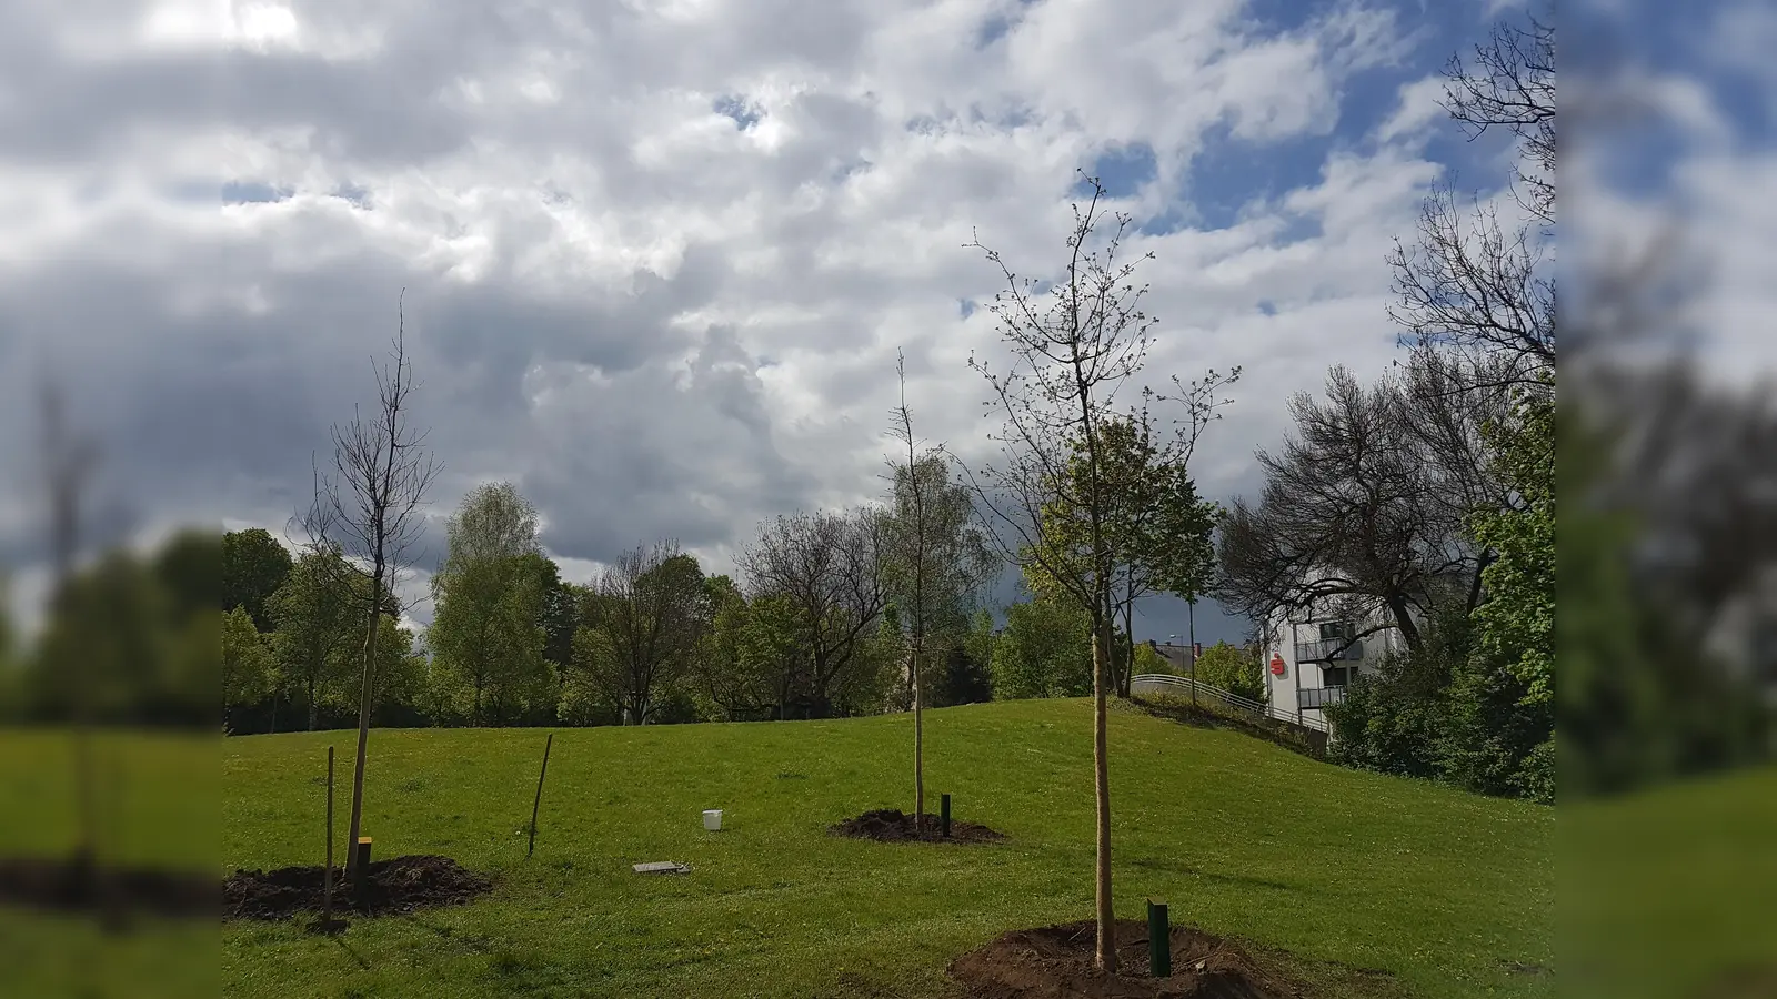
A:
[[[1430,185],[1500,194],[1507,146],[1464,142],[1436,100],[1452,52],[1510,9],[14,0],[5,560],[28,592],[28,379],[60,377],[105,446],[96,530],[281,533],[329,423],[373,400],[405,288],[416,418],[444,464],[421,571],[489,480],[538,505],[569,578],[657,537],[730,571],[761,519],[881,494],[897,348],[922,436],[986,453],[965,361],[997,352],[977,304],[999,272],[963,244],[1054,274],[1077,167],[1155,254],[1148,380],[1244,368],[1196,476],[1251,492],[1292,393],[1397,357],[1384,254]],[[1741,89],[1649,76],[1692,172],[1596,204],[1646,222],[1630,208],[1649,188],[1740,185],[1686,210],[1745,244],[1725,327],[1768,347],[1777,160],[1733,137],[1759,114],[1768,132],[1777,20],[1745,4],[1693,34],[1733,41]],[[1724,98],[1745,87],[1763,98]],[[1199,638],[1240,633],[1198,619]],[[1137,622],[1180,631],[1176,603]]]

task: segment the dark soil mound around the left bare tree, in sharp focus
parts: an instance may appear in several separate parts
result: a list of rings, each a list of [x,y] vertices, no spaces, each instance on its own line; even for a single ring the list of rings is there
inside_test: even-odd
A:
[[[284,919],[322,910],[320,864],[277,871],[235,871],[222,883],[224,919]],[[492,891],[494,882],[460,867],[450,857],[393,857],[371,860],[364,905],[352,901],[345,871],[334,869],[334,910],[361,915],[412,912],[434,905],[460,905]]]

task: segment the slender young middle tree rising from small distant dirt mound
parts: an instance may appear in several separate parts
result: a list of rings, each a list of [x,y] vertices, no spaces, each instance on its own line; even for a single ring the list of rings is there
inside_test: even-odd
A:
[[[951,487],[951,464],[942,444],[920,446],[913,412],[906,405],[906,357],[897,352],[901,400],[888,434],[904,452],[888,460],[894,491],[887,519],[890,590],[908,627],[908,684],[913,695],[913,823],[926,825],[926,654],[935,624],[949,636],[967,626],[961,597],[976,592],[999,567],[986,539],[972,530],[974,510],[965,491]],[[936,604],[936,606],[935,606]],[[952,620],[935,620],[945,611]],[[936,642],[942,649],[944,642]]]

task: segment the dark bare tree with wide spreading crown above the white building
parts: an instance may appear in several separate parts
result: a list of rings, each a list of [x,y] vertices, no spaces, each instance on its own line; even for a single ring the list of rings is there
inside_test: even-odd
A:
[[[1294,432],[1258,453],[1258,505],[1235,500],[1221,524],[1226,606],[1255,622],[1279,611],[1370,622],[1347,643],[1391,626],[1414,649],[1434,608],[1477,606],[1487,553],[1464,523],[1509,501],[1480,453],[1507,395],[1446,391],[1439,372],[1416,354],[1407,377],[1365,388],[1335,368],[1324,402],[1290,402]]]

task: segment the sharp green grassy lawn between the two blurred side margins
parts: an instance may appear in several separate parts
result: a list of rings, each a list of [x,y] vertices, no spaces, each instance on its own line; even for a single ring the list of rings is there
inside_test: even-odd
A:
[[[229,995],[949,995],[945,963],[997,933],[1091,914],[1091,706],[933,711],[931,807],[1000,846],[888,846],[826,825],[912,807],[912,718],[558,731],[524,859],[542,731],[377,731],[364,832],[382,857],[446,853],[498,878],[469,907],[222,931]],[[325,747],[227,739],[222,866],[320,862]],[[1427,997],[1551,995],[1553,811],[1315,763],[1136,711],[1111,723],[1118,914]],[[348,787],[348,784],[347,784]],[[345,835],[341,793],[339,837]],[[707,834],[702,809],[727,811]],[[684,876],[638,876],[684,860]]]

